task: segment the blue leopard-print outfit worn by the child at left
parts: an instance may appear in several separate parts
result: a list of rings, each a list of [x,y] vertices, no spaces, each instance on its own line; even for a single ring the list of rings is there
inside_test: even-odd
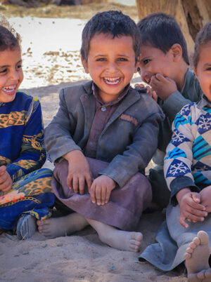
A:
[[[12,229],[22,213],[37,219],[49,216],[54,203],[46,160],[39,100],[18,92],[12,102],[0,103],[0,166],[13,180],[9,192],[0,190],[0,228]]]

